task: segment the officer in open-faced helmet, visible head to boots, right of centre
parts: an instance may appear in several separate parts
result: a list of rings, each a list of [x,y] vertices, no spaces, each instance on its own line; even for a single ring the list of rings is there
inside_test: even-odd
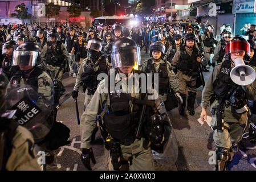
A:
[[[177,71],[178,86],[183,100],[178,108],[181,115],[184,115],[186,106],[186,96],[188,94],[187,109],[190,115],[194,115],[194,102],[196,100],[196,79],[198,68],[200,67],[201,57],[195,46],[196,36],[192,33],[184,35],[185,45],[177,50],[173,59],[172,67]]]

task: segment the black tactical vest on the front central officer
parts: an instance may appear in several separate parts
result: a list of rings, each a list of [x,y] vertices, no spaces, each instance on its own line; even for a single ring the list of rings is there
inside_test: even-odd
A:
[[[117,69],[115,69],[115,75],[116,73]],[[134,73],[140,75],[144,72],[134,70]],[[108,81],[108,89],[110,90],[110,76]],[[140,97],[140,100],[144,99],[145,94],[141,94]],[[133,110],[131,110],[129,99],[123,93],[109,93],[109,100],[109,111],[104,115],[104,126],[111,137],[128,146],[135,140],[135,133],[139,125],[143,105],[133,104]],[[142,134],[144,135],[144,133]]]

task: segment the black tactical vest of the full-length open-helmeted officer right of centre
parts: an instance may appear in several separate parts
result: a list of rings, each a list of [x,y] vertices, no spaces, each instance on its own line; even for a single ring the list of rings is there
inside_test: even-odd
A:
[[[180,51],[181,56],[178,69],[185,75],[197,77],[197,72],[199,68],[199,63],[197,62],[197,57],[199,57],[199,53],[197,49],[193,48],[191,56],[189,56],[188,52],[186,52],[185,46],[181,46]]]

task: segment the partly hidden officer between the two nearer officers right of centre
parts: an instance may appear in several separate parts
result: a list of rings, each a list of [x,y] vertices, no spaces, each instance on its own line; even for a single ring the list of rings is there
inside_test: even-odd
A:
[[[177,49],[179,49],[181,46],[181,43],[182,43],[181,35],[175,34],[173,37],[173,40],[174,40],[174,44],[172,44],[172,46],[169,47],[169,49],[167,50],[166,55],[164,57],[164,60],[169,61],[169,63],[172,63],[172,59],[173,59]]]

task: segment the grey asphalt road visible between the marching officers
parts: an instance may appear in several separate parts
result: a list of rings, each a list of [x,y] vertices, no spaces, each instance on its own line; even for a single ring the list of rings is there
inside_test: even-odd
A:
[[[141,52],[141,59],[146,60],[149,55],[145,55],[145,51]],[[212,70],[212,67],[211,69]],[[205,81],[208,80],[210,73],[204,72]],[[74,87],[76,78],[64,75],[63,84],[66,88],[66,93],[71,93]],[[201,93],[202,87],[197,90],[196,104],[194,105],[196,114],[190,116],[186,112],[185,116],[178,113],[178,109],[170,111],[169,117],[172,122],[174,133],[178,142],[178,159],[173,165],[162,166],[155,163],[156,170],[169,171],[213,171],[215,169],[212,162],[215,146],[213,142],[213,130],[208,123],[201,125],[198,122],[201,114]],[[60,106],[57,121],[67,125],[70,130],[71,143],[67,146],[60,147],[55,151],[57,159],[58,171],[82,171],[87,170],[80,161],[80,125],[77,123],[76,110],[74,99],[70,96]],[[80,88],[78,96],[79,115],[83,113],[84,93]],[[208,110],[210,117],[210,111]],[[247,147],[246,151],[239,151],[234,156],[233,162],[230,164],[230,170],[239,171],[255,171],[256,170],[256,146],[250,144],[247,139],[242,142]],[[103,140],[100,137],[100,131],[96,134],[96,142],[92,144],[96,164],[91,164],[93,170],[104,171],[108,170],[109,152],[105,150]],[[210,162],[210,163],[209,163]]]

